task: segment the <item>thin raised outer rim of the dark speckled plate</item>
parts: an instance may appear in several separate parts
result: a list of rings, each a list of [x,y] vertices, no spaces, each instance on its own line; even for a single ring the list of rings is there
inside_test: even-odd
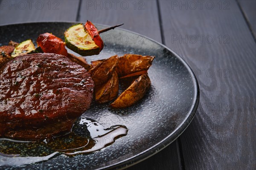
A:
[[[2,26],[13,26],[13,25],[22,25],[22,24],[35,24],[35,23],[83,23],[83,22],[79,22],[79,21],[35,21],[35,22],[21,22],[21,23],[9,23],[9,24],[1,24],[0,28]],[[104,25],[104,24],[97,24],[95,23],[96,26],[102,26],[102,27],[109,27],[108,25]],[[115,28],[117,30],[122,30],[122,31],[126,31],[135,35],[140,35],[142,36],[142,34],[136,33],[134,31],[130,31],[124,28]],[[161,150],[163,150],[164,148],[166,148],[167,146],[169,146],[169,144],[171,144],[172,142],[174,142],[185,130],[186,128],[189,126],[189,124],[192,122],[193,118],[195,117],[195,113],[197,111],[198,108],[198,104],[199,104],[199,99],[200,99],[200,89],[199,89],[199,84],[198,84],[198,80],[194,74],[194,72],[192,71],[192,69],[190,68],[190,66],[185,62],[185,60],[180,57],[177,53],[175,53],[174,51],[172,51],[169,47],[167,47],[166,45],[163,45],[160,42],[157,42],[156,40],[153,40],[152,38],[149,38],[145,35],[143,35],[143,37],[145,39],[148,39],[154,43],[157,43],[158,45],[166,48],[166,50],[170,51],[172,54],[174,54],[174,56],[180,60],[180,62],[182,62],[182,64],[186,67],[186,69],[189,71],[190,74],[192,74],[192,80],[193,80],[193,85],[194,85],[194,91],[195,91],[195,95],[193,96],[193,101],[192,101],[192,107],[189,109],[188,111],[188,115],[186,116],[185,119],[183,119],[183,121],[180,123],[179,126],[177,126],[175,128],[175,130],[170,133],[168,136],[166,136],[164,139],[162,139],[160,142],[157,142],[157,144],[154,144],[152,147],[149,147],[147,150],[144,150],[143,152],[138,153],[137,155],[134,155],[128,159],[119,161],[117,163],[105,166],[105,167],[100,167],[100,168],[96,168],[95,170],[106,170],[106,169],[118,169],[118,170],[123,170],[125,168],[131,167],[137,163],[140,163],[141,161],[144,161],[145,159],[148,159],[149,157],[155,155],[156,153],[160,152]]]

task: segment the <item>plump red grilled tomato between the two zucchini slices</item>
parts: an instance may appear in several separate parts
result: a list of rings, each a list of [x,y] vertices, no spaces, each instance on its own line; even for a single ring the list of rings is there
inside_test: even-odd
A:
[[[53,34],[41,34],[37,38],[36,42],[45,53],[61,54],[67,57],[67,49],[65,48],[65,43]]]

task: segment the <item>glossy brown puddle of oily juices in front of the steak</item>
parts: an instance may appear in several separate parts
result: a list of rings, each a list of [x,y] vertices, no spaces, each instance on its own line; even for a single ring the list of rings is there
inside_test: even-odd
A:
[[[128,129],[123,125],[105,128],[93,119],[80,118],[71,133],[55,137],[52,141],[29,142],[2,138],[0,166],[34,164],[62,154],[75,156],[93,153],[113,144],[127,133]]]

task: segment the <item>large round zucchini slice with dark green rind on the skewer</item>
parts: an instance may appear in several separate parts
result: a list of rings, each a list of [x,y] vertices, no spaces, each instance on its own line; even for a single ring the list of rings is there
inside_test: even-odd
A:
[[[76,24],[68,28],[65,33],[67,48],[81,56],[99,54],[99,46],[95,44],[90,34],[84,30],[83,24]]]

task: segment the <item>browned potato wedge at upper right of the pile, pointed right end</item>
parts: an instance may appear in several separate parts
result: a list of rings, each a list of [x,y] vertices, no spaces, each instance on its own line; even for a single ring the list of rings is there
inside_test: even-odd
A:
[[[134,74],[140,71],[147,71],[153,60],[153,56],[125,54],[124,56],[119,57],[119,62],[116,66],[118,77],[125,77],[129,74]]]

